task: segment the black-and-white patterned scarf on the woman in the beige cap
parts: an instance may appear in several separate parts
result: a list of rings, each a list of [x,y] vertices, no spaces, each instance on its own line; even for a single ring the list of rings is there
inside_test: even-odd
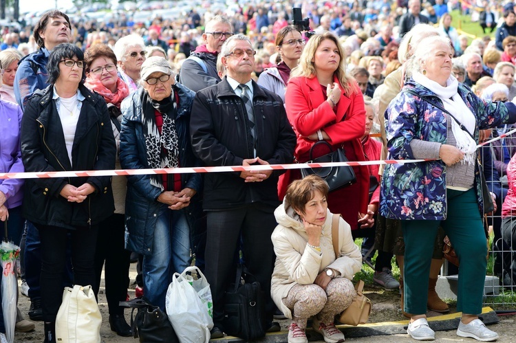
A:
[[[142,126],[147,150],[149,168],[178,168],[179,166],[179,138],[175,131],[175,115],[177,104],[174,93],[168,98],[155,101],[147,91],[142,97]],[[156,125],[155,111],[162,113],[163,126],[160,131]],[[164,190],[161,175],[151,175],[151,185]]]

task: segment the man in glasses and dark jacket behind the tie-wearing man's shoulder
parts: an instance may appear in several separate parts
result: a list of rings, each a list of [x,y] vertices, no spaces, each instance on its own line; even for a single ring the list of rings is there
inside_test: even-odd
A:
[[[233,25],[224,16],[214,16],[204,27],[200,45],[184,60],[179,82],[193,91],[217,85],[217,54],[227,38],[233,35]]]

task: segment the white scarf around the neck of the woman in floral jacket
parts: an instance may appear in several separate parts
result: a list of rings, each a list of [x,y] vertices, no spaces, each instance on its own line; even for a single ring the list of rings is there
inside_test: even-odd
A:
[[[433,91],[433,93],[442,100],[444,109],[449,111],[456,120],[466,127],[471,135],[475,134],[477,119],[457,92],[459,82],[453,75],[451,75],[446,81],[446,87],[442,87],[438,82],[432,81],[427,78],[427,76],[418,72],[414,73],[412,78],[423,87]],[[464,162],[474,164],[476,159],[477,142],[473,140],[469,133],[462,130],[453,118],[448,118],[448,120],[451,121],[451,132],[453,132],[455,142],[457,142],[457,148],[464,153],[462,164],[464,164]]]

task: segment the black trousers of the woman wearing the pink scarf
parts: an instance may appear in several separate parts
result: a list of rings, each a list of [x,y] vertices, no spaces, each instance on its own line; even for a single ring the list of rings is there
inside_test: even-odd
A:
[[[129,286],[129,258],[131,252],[125,250],[125,215],[111,214],[99,224],[97,247],[95,250],[95,296],[98,299],[102,267],[109,314],[123,314],[124,308],[118,302],[127,298]]]

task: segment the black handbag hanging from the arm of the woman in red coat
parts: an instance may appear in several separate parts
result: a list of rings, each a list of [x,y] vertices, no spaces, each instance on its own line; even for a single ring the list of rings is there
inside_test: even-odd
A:
[[[321,157],[313,158],[312,152],[314,148],[318,144],[325,144],[328,146],[330,153],[327,155],[323,155]],[[333,151],[330,143],[320,140],[312,145],[310,148],[310,161],[306,163],[325,163],[325,162],[348,162],[346,154],[344,153],[342,148],[336,149]],[[303,168],[301,169],[301,176],[306,177],[308,175],[318,175],[326,183],[330,188],[330,192],[332,190],[336,190],[341,187],[346,187],[354,184],[356,182],[355,172],[353,168],[350,166],[331,166],[331,167],[323,167],[323,168]]]

